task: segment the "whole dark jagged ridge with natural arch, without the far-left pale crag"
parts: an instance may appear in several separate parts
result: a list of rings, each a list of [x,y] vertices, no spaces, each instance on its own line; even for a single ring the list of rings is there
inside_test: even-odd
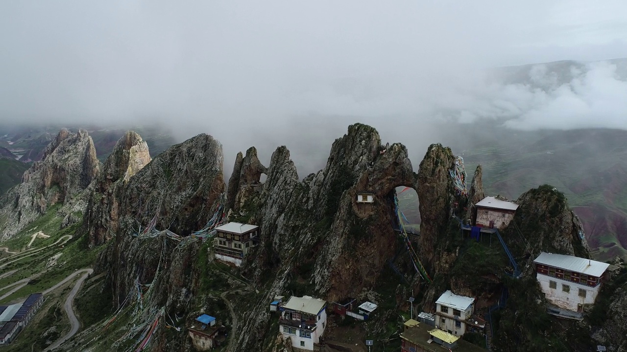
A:
[[[286,147],[275,150],[268,168],[259,162],[255,148],[250,148],[245,157],[238,154],[228,190],[223,182],[221,145],[208,135],[170,148],[130,177],[125,171],[130,160],[127,154],[133,148],[142,149],[142,142],[133,136],[123,140],[93,186],[100,193],[113,191],[102,205],[94,197],[93,213],[84,224],[93,234],[93,244],[107,236],[114,238],[99,259],[98,271],[107,272],[116,306],[136,293],[137,284],[147,285],[145,307],[180,313],[188,322],[198,311],[211,313],[204,311],[205,298],[219,295],[224,301],[236,301],[229,303],[231,314],[226,321],[234,331],[246,333],[230,334],[227,351],[272,348],[278,340],[277,331],[270,329],[268,302],[277,294],[307,294],[329,302],[347,297],[376,301],[374,289],[387,279],[387,260],[398,253],[398,235],[393,230],[398,186],[418,192],[422,222],[415,248],[433,282],[424,284],[413,267],[402,269],[411,287],[393,290],[389,304],[394,308],[379,309],[381,320],[376,326],[396,321],[395,308],[408,299],[409,288],[422,296],[425,311],[432,311],[438,296],[452,289],[477,297],[481,313],[495,303],[507,284],[512,299],[520,307],[524,304],[524,309],[518,311],[517,304],[503,309],[508,319],[501,320],[505,333],[498,339],[500,346],[519,346],[519,337],[537,333],[525,321],[534,321],[534,316],[545,312],[536,301],[540,296],[535,292],[530,261],[540,251],[589,257],[581,224],[566,199],[552,187],[542,186],[521,195],[514,218],[517,227],[510,225],[502,231],[523,269],[520,279],[509,279],[503,270],[508,257],[496,237],[492,245],[486,243],[488,237],[480,244],[464,238],[453,218],[464,217],[469,204],[483,199],[481,168],[464,197],[456,192],[450,175],[455,167],[450,148],[431,145],[416,174],[403,145],[382,145],[376,130],[366,125],[351,125],[333,143],[325,168],[302,180]],[[263,185],[261,173],[266,174]],[[374,202],[357,203],[360,192],[372,194]],[[218,270],[208,269],[203,257],[211,258],[211,252],[201,249],[193,236],[181,238],[166,230],[187,236],[201,229],[216,205],[224,202],[225,193],[227,210],[233,211],[229,220],[245,212],[246,221],[260,225],[261,242],[251,248],[238,272],[250,278],[258,292],[248,283],[244,283],[246,289],[235,291],[234,286],[243,284],[239,277],[220,286],[212,276]],[[161,232],[149,226],[148,234],[132,236],[138,232],[137,224],[144,230],[153,219]],[[209,284],[201,284],[203,280]],[[525,301],[527,292],[529,300]],[[141,319],[147,320],[144,315]],[[507,330],[507,321],[516,321],[516,329]],[[162,330],[152,340],[153,351],[190,350],[187,334],[166,341]]]

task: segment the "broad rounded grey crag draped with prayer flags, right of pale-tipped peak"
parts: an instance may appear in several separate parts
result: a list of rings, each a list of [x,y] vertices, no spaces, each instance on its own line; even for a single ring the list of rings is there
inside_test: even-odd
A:
[[[198,246],[177,246],[166,230],[187,236],[203,228],[225,191],[223,177],[222,145],[202,134],[155,157],[114,194],[117,221],[110,229],[115,228],[115,242],[103,252],[98,267],[107,271],[115,304],[124,301],[136,279],[155,282],[151,304],[177,301],[181,292],[191,292]],[[101,209],[105,214],[92,218],[106,219],[113,208]],[[162,232],[154,238],[134,237],[137,224],[143,230],[155,215],[155,229]]]

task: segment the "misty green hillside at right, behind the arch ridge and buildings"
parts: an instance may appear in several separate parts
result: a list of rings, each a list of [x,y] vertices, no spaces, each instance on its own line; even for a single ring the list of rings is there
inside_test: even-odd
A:
[[[516,199],[551,184],[581,218],[593,255],[627,257],[627,131],[571,130],[478,135],[459,148],[472,174],[483,166],[486,195]]]

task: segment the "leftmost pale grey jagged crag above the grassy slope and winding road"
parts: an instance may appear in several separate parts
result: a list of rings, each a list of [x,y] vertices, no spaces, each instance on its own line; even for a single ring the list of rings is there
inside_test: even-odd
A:
[[[0,199],[0,239],[8,239],[57,203],[68,204],[98,174],[96,149],[87,131],[63,129],[45,148],[43,159],[24,172],[22,183]],[[82,211],[83,209],[79,209]]]

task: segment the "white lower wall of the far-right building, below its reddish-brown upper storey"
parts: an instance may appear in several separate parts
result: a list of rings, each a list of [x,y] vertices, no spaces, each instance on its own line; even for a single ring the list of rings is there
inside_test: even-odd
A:
[[[590,287],[577,284],[576,282],[558,279],[557,277],[546,276],[544,274],[537,274],[536,277],[547,300],[559,308],[566,309],[567,311],[576,312],[578,304],[593,304],[596,300],[596,296],[599,294],[599,289],[601,289],[601,285]],[[549,286],[550,281],[555,281],[557,283],[557,287],[552,289]],[[562,284],[571,286],[570,292],[562,291]],[[586,298],[579,297],[579,289],[586,290]]]

